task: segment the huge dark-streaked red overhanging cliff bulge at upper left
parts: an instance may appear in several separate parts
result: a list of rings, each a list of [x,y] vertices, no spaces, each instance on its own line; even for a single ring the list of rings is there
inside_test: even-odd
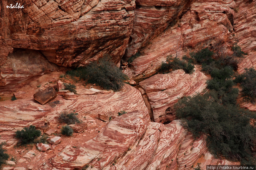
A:
[[[40,50],[50,62],[63,66],[84,65],[106,53],[118,63],[131,33],[134,2],[40,0],[11,9],[6,6],[13,2],[3,0],[0,65],[12,48]]]

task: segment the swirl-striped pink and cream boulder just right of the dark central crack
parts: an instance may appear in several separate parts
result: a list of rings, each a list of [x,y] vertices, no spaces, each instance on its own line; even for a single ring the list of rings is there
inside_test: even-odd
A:
[[[179,98],[202,92],[209,78],[200,71],[185,74],[176,70],[168,74],[157,74],[139,85],[146,91],[155,122],[167,122],[176,119],[173,106]]]

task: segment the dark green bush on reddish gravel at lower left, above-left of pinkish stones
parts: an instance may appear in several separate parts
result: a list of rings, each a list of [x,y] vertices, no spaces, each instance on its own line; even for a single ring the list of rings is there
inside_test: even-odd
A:
[[[25,127],[21,131],[15,132],[16,138],[20,139],[22,145],[34,143],[34,140],[41,135],[40,130],[36,130],[36,127],[30,125],[29,128]]]

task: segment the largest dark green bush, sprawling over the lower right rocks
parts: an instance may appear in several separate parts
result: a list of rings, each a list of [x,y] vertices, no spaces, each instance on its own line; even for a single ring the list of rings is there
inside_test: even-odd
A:
[[[255,114],[236,105],[224,105],[218,92],[184,97],[176,104],[177,117],[194,137],[207,134],[207,146],[217,157],[253,164],[256,129],[250,124]]]

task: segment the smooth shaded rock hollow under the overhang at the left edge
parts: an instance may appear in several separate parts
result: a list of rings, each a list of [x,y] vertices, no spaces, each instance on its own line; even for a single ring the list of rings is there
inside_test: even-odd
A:
[[[1,21],[1,23],[4,22]],[[1,35],[3,31],[0,32]],[[1,46],[3,44],[0,41],[0,49]],[[42,75],[47,71],[57,70],[57,66],[49,63],[42,53],[38,51],[15,49],[13,53],[7,53],[7,55],[3,56],[1,53],[0,56],[0,93],[11,92],[12,89],[18,90],[22,87],[22,82]]]

